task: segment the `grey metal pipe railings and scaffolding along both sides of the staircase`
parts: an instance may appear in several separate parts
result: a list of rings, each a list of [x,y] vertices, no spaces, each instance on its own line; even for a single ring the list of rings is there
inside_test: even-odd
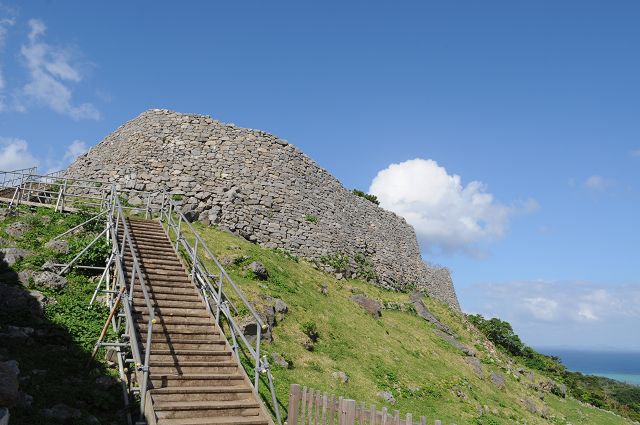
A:
[[[222,320],[224,319],[227,323],[230,334],[228,337],[231,338],[236,360],[243,368],[244,364],[240,358],[240,350],[246,350],[248,353],[254,373],[254,391],[258,396],[260,374],[266,375],[271,393],[273,412],[278,423],[282,423],[269,362],[266,356],[261,356],[260,352],[260,342],[266,325],[237,284],[225,271],[220,261],[211,252],[203,238],[193,228],[189,220],[187,220],[180,206],[170,199],[168,193],[120,189],[114,183],[67,178],[64,177],[64,171],[50,175],[37,175],[35,174],[35,169],[0,171],[0,181],[3,182],[0,190],[13,189],[13,197],[9,202],[10,208],[15,208],[21,203],[29,202],[30,204],[48,205],[54,207],[56,211],[73,211],[74,209],[80,208],[94,208],[100,211],[96,216],[77,227],[100,219],[100,217],[106,214],[107,226],[105,231],[98,235],[82,252],[76,255],[69,264],[63,265],[64,268],[62,271],[65,272],[69,270],[99,238],[106,236],[107,239],[111,241],[112,254],[107,261],[91,302],[93,303],[96,299],[98,289],[103,282],[106,282],[107,285],[105,292],[112,295],[117,294],[118,290],[122,289],[122,287],[125,288],[121,304],[126,319],[126,334],[130,340],[128,344],[124,345],[131,346],[132,361],[135,363],[139,388],[130,388],[130,391],[134,390],[140,393],[141,417],[144,417],[145,409],[147,408],[146,404],[149,400],[147,396],[147,389],[149,387],[149,358],[153,343],[152,325],[155,322],[155,313],[151,305],[144,276],[140,270],[140,261],[135,252],[131,233],[126,222],[127,213],[144,213],[145,218],[156,217],[160,219],[167,236],[174,244],[176,252],[182,255],[187,263],[190,269],[189,274],[192,283],[199,288],[203,298],[207,301],[207,306],[214,315],[216,324],[220,327],[223,334]],[[134,197],[138,198],[136,205],[130,205],[125,202],[125,200],[131,200]],[[74,229],[66,233],[72,230]],[[118,234],[119,230],[121,231],[121,235]],[[58,238],[61,236],[62,235],[58,236]],[[131,270],[126,270],[124,267],[125,255],[131,256]],[[207,265],[207,260],[209,265]],[[135,321],[133,319],[132,300],[134,291],[138,287],[138,290],[141,290],[144,295],[145,304],[149,311],[146,350],[140,345],[141,341],[138,339],[134,329]],[[113,298],[113,296],[110,297],[108,301],[110,308],[113,307]],[[254,342],[251,342],[244,335],[238,325],[237,319],[240,318],[240,314],[234,302],[237,302],[238,306],[246,309],[252,320],[255,321],[257,335]],[[114,330],[118,327],[115,318],[112,321],[112,326]],[[114,344],[103,343],[102,345],[113,346]],[[122,345],[123,344],[115,344],[115,346]],[[124,376],[123,364],[120,360],[119,368],[121,376]],[[249,375],[249,371],[246,369],[245,371]]]

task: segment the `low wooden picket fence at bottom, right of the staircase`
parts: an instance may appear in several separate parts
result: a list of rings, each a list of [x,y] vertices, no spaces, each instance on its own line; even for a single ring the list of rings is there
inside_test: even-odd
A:
[[[434,420],[435,425],[442,421]],[[413,415],[407,413],[405,418],[400,412],[387,411],[386,407],[378,411],[375,405],[367,408],[363,403],[356,403],[334,395],[327,395],[313,388],[292,384],[289,391],[289,418],[286,425],[427,425],[427,418],[420,416],[415,422]],[[455,425],[455,424],[452,424]]]

